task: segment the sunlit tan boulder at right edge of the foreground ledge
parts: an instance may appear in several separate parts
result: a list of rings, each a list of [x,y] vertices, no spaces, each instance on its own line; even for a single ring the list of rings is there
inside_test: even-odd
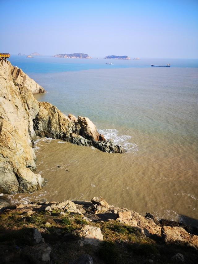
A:
[[[189,234],[182,227],[164,226],[161,228],[161,237],[165,242],[183,241],[198,249],[198,236]]]

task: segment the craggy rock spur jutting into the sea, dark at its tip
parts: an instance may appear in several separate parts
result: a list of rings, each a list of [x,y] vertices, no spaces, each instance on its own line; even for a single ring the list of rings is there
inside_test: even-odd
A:
[[[63,115],[56,106],[48,102],[39,102],[39,112],[35,119],[34,131],[37,136],[61,139],[77,145],[93,146],[104,152],[125,153],[126,150],[115,145],[113,140],[105,140],[104,135],[97,132],[95,125],[87,117]]]

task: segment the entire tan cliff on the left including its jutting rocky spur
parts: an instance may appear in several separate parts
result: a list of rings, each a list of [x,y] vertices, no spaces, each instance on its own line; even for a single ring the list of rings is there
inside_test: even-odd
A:
[[[37,102],[34,93],[45,90],[9,61],[0,61],[0,192],[32,192],[44,179],[36,174],[33,150],[36,135],[124,153],[105,140],[86,117],[63,115],[56,106]]]

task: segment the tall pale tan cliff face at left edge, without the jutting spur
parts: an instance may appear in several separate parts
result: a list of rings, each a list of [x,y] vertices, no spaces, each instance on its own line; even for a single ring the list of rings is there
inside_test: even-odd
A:
[[[8,61],[0,62],[0,192],[31,192],[43,179],[35,174],[32,119],[39,105],[32,92],[41,86]]]

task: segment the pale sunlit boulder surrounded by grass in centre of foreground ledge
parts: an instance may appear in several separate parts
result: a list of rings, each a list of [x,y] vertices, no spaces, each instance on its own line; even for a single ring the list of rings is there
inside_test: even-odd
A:
[[[103,235],[99,227],[86,225],[80,230],[79,236],[81,237],[80,246],[84,244],[98,246],[103,241]]]

